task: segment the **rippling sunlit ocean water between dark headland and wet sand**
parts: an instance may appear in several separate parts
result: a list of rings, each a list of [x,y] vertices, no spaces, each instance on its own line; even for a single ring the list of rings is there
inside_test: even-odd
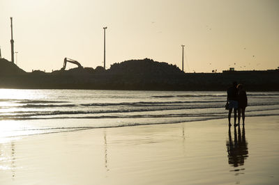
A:
[[[279,92],[247,94],[247,117],[279,115]],[[225,102],[225,91],[0,89],[0,139],[227,118]]]

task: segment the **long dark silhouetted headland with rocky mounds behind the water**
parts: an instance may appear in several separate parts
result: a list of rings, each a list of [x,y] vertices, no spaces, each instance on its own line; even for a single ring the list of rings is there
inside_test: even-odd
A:
[[[0,58],[0,88],[102,90],[225,90],[232,81],[249,91],[278,91],[279,70],[184,73],[176,65],[149,58],[103,67],[76,67],[54,72],[24,72]]]

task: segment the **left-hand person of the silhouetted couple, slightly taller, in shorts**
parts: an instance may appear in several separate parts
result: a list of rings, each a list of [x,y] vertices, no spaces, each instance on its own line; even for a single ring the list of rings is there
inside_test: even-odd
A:
[[[236,110],[239,107],[238,102],[238,91],[237,91],[237,83],[234,81],[232,83],[232,87],[227,89],[227,104],[229,104],[229,126],[231,126],[231,115],[232,115],[232,109],[234,109],[234,125],[236,125]]]

